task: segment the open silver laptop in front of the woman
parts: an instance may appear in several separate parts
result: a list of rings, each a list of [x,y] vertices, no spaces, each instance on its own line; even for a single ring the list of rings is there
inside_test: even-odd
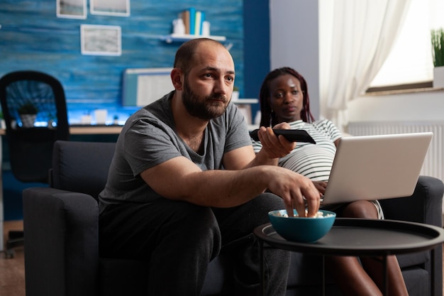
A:
[[[340,139],[322,204],[413,194],[433,133]]]

